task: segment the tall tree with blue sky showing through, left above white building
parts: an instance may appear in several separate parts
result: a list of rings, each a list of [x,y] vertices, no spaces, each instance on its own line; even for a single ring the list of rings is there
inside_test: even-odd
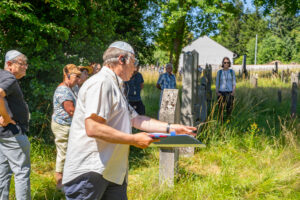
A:
[[[155,37],[159,48],[169,53],[169,61],[178,70],[179,56],[188,35],[208,34],[217,29],[217,24],[235,10],[231,1],[171,0],[158,1],[163,27]]]

